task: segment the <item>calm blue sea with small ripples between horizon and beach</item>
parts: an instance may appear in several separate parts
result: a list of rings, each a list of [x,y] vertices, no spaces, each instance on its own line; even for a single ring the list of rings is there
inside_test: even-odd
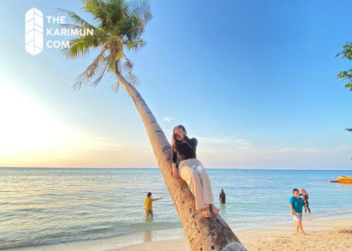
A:
[[[292,189],[305,188],[307,220],[352,213],[352,184],[329,183],[346,171],[207,169],[215,205],[232,229],[290,221]],[[144,198],[154,219],[144,216]],[[182,225],[157,168],[1,168],[0,249],[180,231]]]

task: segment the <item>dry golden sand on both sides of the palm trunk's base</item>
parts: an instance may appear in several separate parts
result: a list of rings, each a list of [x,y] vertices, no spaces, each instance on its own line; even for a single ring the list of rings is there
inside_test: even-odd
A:
[[[295,235],[294,222],[236,231],[249,250],[350,250],[352,248],[352,217],[303,221],[307,235]],[[151,241],[113,251],[191,251],[186,238]]]

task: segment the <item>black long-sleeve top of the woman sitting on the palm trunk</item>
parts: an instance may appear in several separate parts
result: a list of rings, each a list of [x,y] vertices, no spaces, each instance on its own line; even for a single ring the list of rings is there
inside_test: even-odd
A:
[[[179,143],[177,146],[177,151],[172,147],[171,151],[171,160],[172,163],[176,163],[177,156],[181,161],[197,158],[196,149],[198,145],[198,141],[196,138],[188,138],[187,136],[184,138],[185,143]],[[178,167],[178,166],[177,166]]]

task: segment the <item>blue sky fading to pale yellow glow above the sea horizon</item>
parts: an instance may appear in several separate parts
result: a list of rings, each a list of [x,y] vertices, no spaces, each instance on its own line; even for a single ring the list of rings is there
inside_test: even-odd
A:
[[[132,100],[110,90],[114,78],[70,90],[94,53],[66,61],[56,48],[25,50],[28,10],[59,16],[54,8],[80,13],[79,3],[17,1],[16,10],[14,3],[2,1],[0,18],[8,24],[0,42],[0,166],[156,167]],[[343,129],[351,127],[352,92],[336,79],[351,62],[334,58],[351,40],[352,19],[341,14],[348,1],[151,4],[148,45],[129,56],[168,138],[184,124],[206,167],[351,168],[352,134]],[[44,20],[47,28],[57,25]]]

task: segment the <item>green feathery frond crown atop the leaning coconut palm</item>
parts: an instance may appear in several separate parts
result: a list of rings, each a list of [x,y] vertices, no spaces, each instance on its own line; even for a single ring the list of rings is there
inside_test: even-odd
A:
[[[82,12],[93,16],[92,24],[72,11],[55,9],[71,18],[74,24],[62,24],[64,29],[93,29],[93,36],[78,36],[69,40],[70,46],[61,48],[67,60],[84,58],[93,50],[98,56],[77,76],[72,89],[96,87],[106,73],[122,74],[133,86],[138,86],[139,77],[132,73],[133,61],[126,51],[138,52],[147,43],[142,39],[147,23],[152,19],[148,0],[80,0]],[[119,79],[112,85],[118,92]]]

